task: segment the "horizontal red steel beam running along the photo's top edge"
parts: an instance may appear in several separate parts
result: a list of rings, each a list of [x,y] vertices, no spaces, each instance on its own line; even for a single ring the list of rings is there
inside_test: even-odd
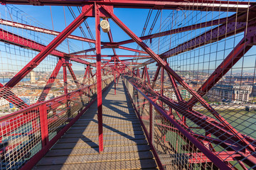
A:
[[[40,1],[27,1],[27,0],[1,0],[1,4],[23,4],[23,5],[36,5],[36,6],[82,6],[86,4],[93,4],[97,2],[102,5],[114,6],[114,8],[160,8],[160,9],[174,9],[186,8],[186,10],[197,11],[244,11],[250,4],[245,1],[134,1],[134,0],[106,0],[106,1],[93,1],[93,0],[40,0]]]

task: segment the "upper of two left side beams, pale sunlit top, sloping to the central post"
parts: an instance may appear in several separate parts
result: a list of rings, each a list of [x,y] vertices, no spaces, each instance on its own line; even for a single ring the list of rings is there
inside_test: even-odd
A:
[[[6,25],[6,26],[11,26],[11,27],[15,27],[15,28],[22,28],[25,30],[33,30],[36,31],[38,33],[46,33],[46,34],[50,34],[50,35],[59,35],[60,32],[55,31],[55,30],[48,30],[46,28],[39,28],[39,27],[35,27],[35,26],[29,26],[23,23],[16,23],[14,21],[8,21],[8,20],[4,20],[2,18],[0,18],[0,23],[2,25]],[[68,35],[68,38],[73,39],[73,40],[81,40],[81,41],[85,41],[85,42],[90,42],[90,43],[95,43],[95,40],[89,39],[89,38],[82,38],[76,35]],[[104,44],[104,42],[102,42],[102,44]]]

